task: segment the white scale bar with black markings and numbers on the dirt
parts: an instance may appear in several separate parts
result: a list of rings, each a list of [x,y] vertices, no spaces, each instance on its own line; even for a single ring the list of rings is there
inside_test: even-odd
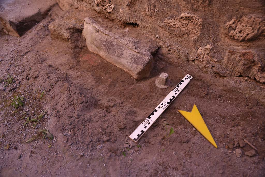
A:
[[[157,118],[164,112],[164,110],[170,105],[170,103],[172,103],[172,101],[184,89],[189,81],[191,81],[191,79],[192,76],[187,74],[129,137],[133,141],[137,142],[149,129],[149,127],[151,127],[151,125],[157,120]]]

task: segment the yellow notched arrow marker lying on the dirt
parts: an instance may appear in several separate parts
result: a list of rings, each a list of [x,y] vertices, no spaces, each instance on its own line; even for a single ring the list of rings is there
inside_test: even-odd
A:
[[[210,133],[210,131],[208,130],[204,120],[201,117],[201,114],[198,110],[198,108],[196,107],[196,105],[193,105],[192,111],[191,112],[187,112],[187,111],[182,111],[182,110],[178,110],[179,113],[184,116],[189,123],[191,123],[208,141],[210,141],[210,143],[212,145],[214,145],[215,148],[217,148],[217,145]]]

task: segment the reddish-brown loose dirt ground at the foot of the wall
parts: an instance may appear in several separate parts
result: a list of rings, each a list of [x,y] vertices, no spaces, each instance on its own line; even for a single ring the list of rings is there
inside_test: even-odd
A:
[[[151,75],[136,81],[88,51],[82,33],[72,42],[52,39],[48,25],[64,13],[58,9],[21,38],[1,33],[1,177],[264,176],[264,105],[188,61],[166,62],[171,55],[163,47]],[[155,85],[162,72],[169,74],[167,89]],[[192,81],[133,143],[129,135],[187,73]],[[14,96],[23,98],[18,109]],[[178,113],[193,104],[217,149]],[[162,120],[174,128],[169,138]],[[43,139],[41,129],[54,138]]]

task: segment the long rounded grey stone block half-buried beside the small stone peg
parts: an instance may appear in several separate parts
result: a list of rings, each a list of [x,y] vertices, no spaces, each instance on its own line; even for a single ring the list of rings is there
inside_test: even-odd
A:
[[[147,49],[138,48],[133,38],[121,38],[99,26],[93,19],[84,20],[83,38],[87,48],[108,62],[131,74],[135,79],[149,76],[153,56]]]

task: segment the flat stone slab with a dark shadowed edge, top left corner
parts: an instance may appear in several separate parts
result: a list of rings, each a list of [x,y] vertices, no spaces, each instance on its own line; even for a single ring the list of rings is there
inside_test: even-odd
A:
[[[20,37],[45,17],[55,0],[1,0],[0,30]]]

